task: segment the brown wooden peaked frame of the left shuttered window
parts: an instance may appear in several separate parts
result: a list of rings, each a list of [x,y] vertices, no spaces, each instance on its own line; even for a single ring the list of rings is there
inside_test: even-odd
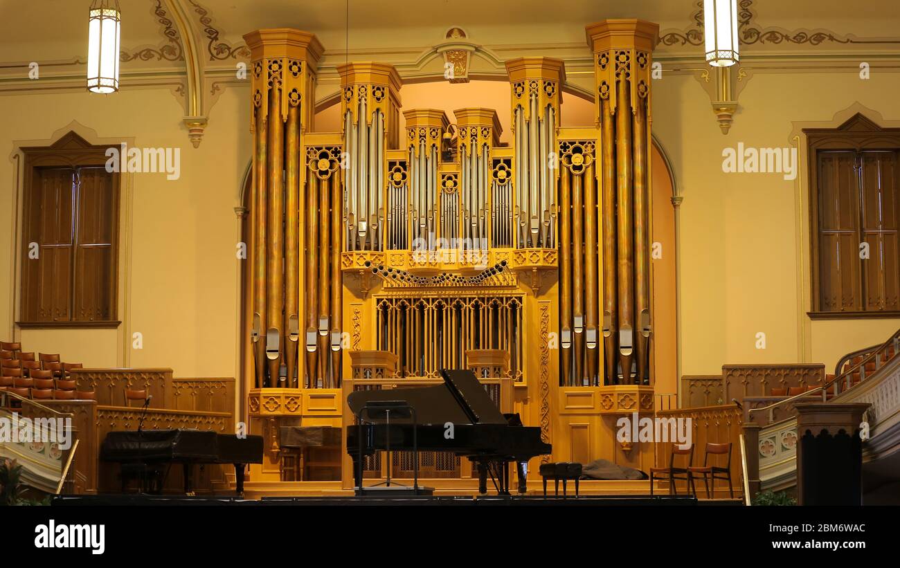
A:
[[[28,301],[27,278],[25,271],[25,263],[29,262],[29,236],[31,235],[31,209],[34,199],[34,182],[35,170],[37,168],[80,168],[80,167],[103,167],[106,164],[106,150],[109,147],[118,148],[118,145],[93,146],[84,138],[78,136],[75,132],[68,132],[62,138],[59,138],[50,146],[27,146],[19,148],[24,155],[24,175],[23,175],[23,231],[21,246],[21,263],[20,281],[18,283],[20,299],[19,299],[19,317],[20,321],[15,324],[23,329],[58,329],[58,328],[118,328],[121,321],[118,319],[119,314],[119,231],[120,231],[120,207],[121,207],[121,174],[114,173],[112,175],[112,212],[116,215],[112,226],[111,238],[111,294],[112,294],[112,310],[110,319],[108,320],[90,320],[76,321],[71,319],[74,317],[73,310],[69,310],[68,320],[59,321],[31,321],[24,318],[28,313],[26,302]],[[73,214],[75,214],[73,212]],[[77,253],[77,246],[73,242],[73,255]],[[72,271],[76,271],[77,262],[75,256],[72,259]],[[73,287],[69,291],[69,302],[74,301],[76,280],[73,279]]]

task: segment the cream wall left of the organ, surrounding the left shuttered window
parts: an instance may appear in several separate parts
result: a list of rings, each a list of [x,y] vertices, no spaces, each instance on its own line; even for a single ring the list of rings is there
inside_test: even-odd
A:
[[[177,147],[181,176],[130,174],[123,186],[118,330],[23,330],[29,351],[59,352],[85,367],[171,367],[178,377],[234,377],[238,329],[238,185],[250,146],[246,93],[228,89],[210,113],[199,148],[191,146],[178,120],[179,102],[167,89],[124,89],[98,96],[82,91],[0,98],[0,146],[44,145],[67,131],[89,142]],[[54,133],[56,135],[54,136]],[[0,160],[3,226],[14,223],[15,162]],[[13,259],[13,230],[0,232],[0,266]],[[18,255],[18,252],[16,252]],[[11,298],[14,282],[4,271],[0,295]],[[16,300],[17,302],[18,300]],[[11,299],[0,302],[2,336],[13,332]],[[133,349],[132,333],[143,348]]]

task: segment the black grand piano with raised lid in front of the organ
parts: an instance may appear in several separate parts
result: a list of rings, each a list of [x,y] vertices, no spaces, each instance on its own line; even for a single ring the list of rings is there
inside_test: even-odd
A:
[[[441,377],[443,385],[356,391],[347,396],[347,404],[359,416],[369,404],[403,401],[415,409],[419,451],[453,452],[471,459],[478,469],[479,493],[487,493],[487,478],[491,475],[498,493],[509,494],[509,463],[515,463],[518,491],[525,493],[523,464],[551,451],[550,444],[541,440],[541,429],[523,426],[518,414],[500,413],[471,370],[442,369]],[[353,458],[356,487],[362,482],[360,449],[364,456],[388,449],[388,442],[392,451],[413,449],[411,418],[392,418],[390,426],[384,422],[373,418],[366,419],[361,428],[347,427],[347,453]],[[452,439],[445,436],[448,422],[453,424]]]

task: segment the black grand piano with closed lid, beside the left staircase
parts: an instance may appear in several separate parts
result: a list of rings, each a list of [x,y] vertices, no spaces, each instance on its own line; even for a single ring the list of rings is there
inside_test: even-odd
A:
[[[244,493],[244,466],[263,463],[263,438],[238,438],[235,434],[219,434],[210,430],[126,430],[106,434],[100,448],[105,462],[122,467],[122,490],[129,472],[139,471],[142,480],[148,472],[156,478],[156,491],[162,489],[163,468],[181,464],[184,467],[184,493],[193,493],[191,479],[197,464],[232,464],[237,478],[238,495]],[[144,487],[142,484],[141,490]]]

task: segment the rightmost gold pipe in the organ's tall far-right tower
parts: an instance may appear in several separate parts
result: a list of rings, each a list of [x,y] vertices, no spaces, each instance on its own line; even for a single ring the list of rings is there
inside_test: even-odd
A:
[[[650,377],[650,271],[648,265],[648,236],[650,226],[647,216],[647,122],[645,99],[635,101],[634,164],[635,164],[635,358],[638,384]]]

